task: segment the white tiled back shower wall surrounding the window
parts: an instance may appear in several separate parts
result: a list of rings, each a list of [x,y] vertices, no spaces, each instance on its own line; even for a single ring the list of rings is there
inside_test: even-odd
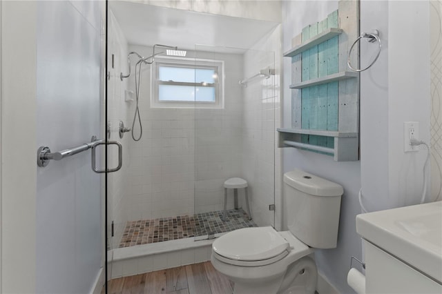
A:
[[[129,49],[142,56],[152,53],[152,48],[144,46]],[[189,57],[192,54],[188,52]],[[195,207],[198,212],[219,210],[224,180],[239,173],[235,150],[240,146],[242,57],[198,52],[198,58],[202,57],[224,61],[224,109],[151,108],[151,68],[142,69],[143,136],[138,142],[130,141],[124,196],[128,221],[192,214]],[[128,87],[135,92],[133,77]],[[129,106],[129,117],[133,112],[135,102]]]

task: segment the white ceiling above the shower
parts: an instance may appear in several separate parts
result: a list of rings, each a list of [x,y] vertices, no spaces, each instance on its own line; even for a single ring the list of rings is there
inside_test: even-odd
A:
[[[128,43],[142,46],[164,44],[195,50],[195,44],[202,44],[249,49],[278,25],[127,1],[109,1],[109,7]]]

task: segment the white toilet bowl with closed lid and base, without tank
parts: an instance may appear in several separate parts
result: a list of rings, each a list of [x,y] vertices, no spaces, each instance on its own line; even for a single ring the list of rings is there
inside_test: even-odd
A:
[[[277,232],[271,226],[241,228],[216,239],[212,248],[213,267],[235,283],[233,293],[315,292],[316,265],[307,256],[314,249],[289,231]],[[302,282],[296,283],[300,275]]]

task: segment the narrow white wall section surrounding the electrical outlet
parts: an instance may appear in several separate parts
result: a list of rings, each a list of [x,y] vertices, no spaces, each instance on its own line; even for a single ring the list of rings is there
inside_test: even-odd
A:
[[[398,207],[420,203],[427,156],[426,150],[403,153],[403,121],[419,121],[420,139],[430,144],[430,6],[390,1],[388,12],[389,195],[390,205]],[[416,46],[405,41],[405,32],[417,36]]]

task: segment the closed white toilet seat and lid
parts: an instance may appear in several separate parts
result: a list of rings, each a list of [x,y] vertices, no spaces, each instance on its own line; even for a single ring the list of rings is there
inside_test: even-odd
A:
[[[290,244],[271,226],[241,228],[222,235],[212,244],[220,261],[241,266],[271,264],[290,252]]]

